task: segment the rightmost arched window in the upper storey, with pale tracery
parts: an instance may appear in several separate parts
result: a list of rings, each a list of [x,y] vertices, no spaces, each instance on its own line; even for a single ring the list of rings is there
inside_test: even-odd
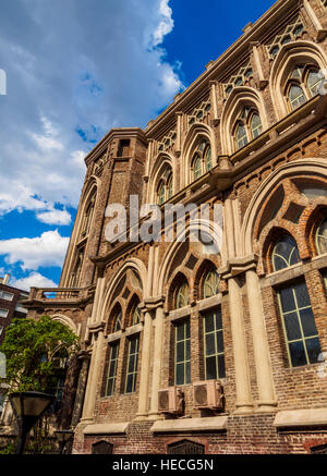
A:
[[[292,111],[318,94],[322,75],[316,66],[298,64],[289,75],[286,96]]]

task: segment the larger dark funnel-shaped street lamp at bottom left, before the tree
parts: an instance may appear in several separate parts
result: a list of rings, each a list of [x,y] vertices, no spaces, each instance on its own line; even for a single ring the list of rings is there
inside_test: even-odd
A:
[[[56,396],[39,392],[15,392],[9,395],[9,400],[19,426],[16,454],[23,454],[28,432],[55,402]]]

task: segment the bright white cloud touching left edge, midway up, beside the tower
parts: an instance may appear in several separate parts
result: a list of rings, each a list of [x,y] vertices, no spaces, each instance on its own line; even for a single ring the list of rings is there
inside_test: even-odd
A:
[[[20,264],[23,271],[40,267],[61,267],[69,237],[56,231],[48,231],[34,239],[12,239],[0,241],[0,255],[5,255],[8,265]]]

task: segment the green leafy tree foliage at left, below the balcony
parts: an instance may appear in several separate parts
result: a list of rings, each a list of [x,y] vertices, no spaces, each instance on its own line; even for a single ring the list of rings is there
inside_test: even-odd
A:
[[[65,359],[76,351],[75,334],[49,316],[37,321],[14,319],[0,347],[7,358],[2,382],[9,385],[9,392],[52,392],[62,378]]]

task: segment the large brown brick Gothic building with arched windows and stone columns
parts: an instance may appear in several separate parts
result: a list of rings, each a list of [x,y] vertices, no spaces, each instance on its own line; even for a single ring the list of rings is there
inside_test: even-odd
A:
[[[60,288],[25,303],[84,344],[75,453],[326,452],[326,7],[278,1],[144,131],[86,157]],[[131,195],[220,204],[220,253],[108,243],[106,207]]]

